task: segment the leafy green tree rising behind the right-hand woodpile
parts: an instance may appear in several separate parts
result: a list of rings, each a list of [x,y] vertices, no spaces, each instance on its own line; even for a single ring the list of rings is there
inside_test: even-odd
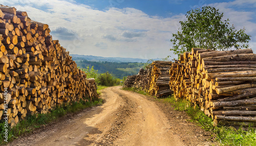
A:
[[[190,52],[192,47],[225,51],[231,47],[236,49],[248,47],[250,36],[245,29],[237,31],[229,19],[222,21],[223,13],[213,7],[202,7],[188,11],[186,21],[180,21],[181,29],[173,34],[174,54]]]

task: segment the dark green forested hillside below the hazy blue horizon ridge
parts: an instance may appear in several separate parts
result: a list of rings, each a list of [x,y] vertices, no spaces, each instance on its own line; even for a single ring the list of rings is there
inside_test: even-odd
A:
[[[98,70],[99,74],[104,72],[110,72],[114,77],[122,79],[124,76],[136,75],[139,69],[142,68],[145,63],[129,63],[129,62],[95,62],[88,60],[77,60],[77,66],[85,68],[89,65],[91,68],[94,66],[95,70]]]

